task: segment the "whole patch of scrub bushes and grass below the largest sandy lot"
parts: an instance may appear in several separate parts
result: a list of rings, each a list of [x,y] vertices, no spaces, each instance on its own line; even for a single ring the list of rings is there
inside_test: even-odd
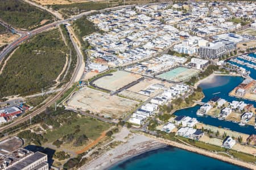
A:
[[[10,131],[15,133],[20,129],[26,129],[30,126],[28,122],[29,120],[5,130],[5,133]],[[44,143],[52,143],[58,148],[64,143],[70,143],[74,147],[86,145],[89,139],[97,139],[103,131],[110,127],[110,124],[94,118],[65,111],[64,107],[57,108],[56,112],[52,108],[47,108],[44,113],[32,118],[32,125],[35,124],[40,124],[42,128],[46,129],[46,132],[34,133],[31,130],[23,130],[19,132],[18,137],[23,138],[26,145],[33,143],[41,146]]]

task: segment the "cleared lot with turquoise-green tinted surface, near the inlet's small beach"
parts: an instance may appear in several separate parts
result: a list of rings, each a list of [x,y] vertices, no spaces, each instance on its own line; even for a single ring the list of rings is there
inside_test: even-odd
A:
[[[173,82],[181,82],[191,78],[192,76],[196,76],[200,71],[196,69],[187,69],[185,67],[177,67],[171,71],[166,73],[157,75],[156,77],[171,80]]]

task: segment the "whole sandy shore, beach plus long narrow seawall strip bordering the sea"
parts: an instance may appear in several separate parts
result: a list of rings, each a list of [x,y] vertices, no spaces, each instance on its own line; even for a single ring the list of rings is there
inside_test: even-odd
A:
[[[143,138],[144,141],[137,142],[138,137]],[[142,149],[138,148],[138,146],[141,146]],[[144,154],[149,151],[158,150],[160,148],[165,148],[167,146],[180,148],[189,152],[194,152],[196,154],[204,155],[209,158],[217,159],[222,162],[233,164],[239,167],[256,169],[256,165],[253,163],[247,163],[238,159],[228,158],[226,156],[218,155],[212,151],[204,150],[202,148],[188,146],[183,143],[158,138],[153,135],[144,133],[133,134],[133,137],[130,138],[129,141],[127,141],[126,143],[122,143],[121,145],[112,148],[106,153],[100,155],[98,158],[91,160],[88,164],[83,165],[79,169],[111,169],[116,165],[126,162],[127,160],[134,158],[138,155]],[[112,152],[112,154],[110,154],[110,152]],[[115,155],[113,156],[113,154]]]

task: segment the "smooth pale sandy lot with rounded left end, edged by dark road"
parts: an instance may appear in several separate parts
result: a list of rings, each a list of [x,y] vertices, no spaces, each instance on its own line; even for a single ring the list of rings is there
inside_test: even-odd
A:
[[[111,74],[111,76],[107,75],[96,80],[94,84],[110,91],[117,91],[119,88],[122,88],[142,77],[141,75],[127,73],[125,71],[116,71]]]

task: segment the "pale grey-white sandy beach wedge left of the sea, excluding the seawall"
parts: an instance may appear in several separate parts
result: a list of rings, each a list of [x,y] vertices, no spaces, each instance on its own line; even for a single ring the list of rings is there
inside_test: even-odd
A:
[[[122,162],[146,151],[155,150],[165,147],[164,143],[155,141],[141,134],[133,134],[126,143],[123,143],[112,150],[100,155],[97,159],[93,159],[88,164],[85,164],[80,169],[106,169],[112,167],[118,162]]]

